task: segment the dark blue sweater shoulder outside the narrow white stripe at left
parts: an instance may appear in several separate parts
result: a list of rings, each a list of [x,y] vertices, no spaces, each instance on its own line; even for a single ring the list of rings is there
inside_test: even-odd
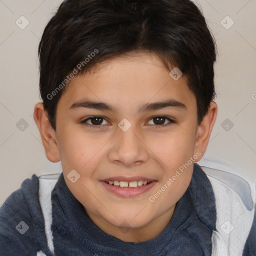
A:
[[[38,198],[38,177],[25,179],[0,207],[2,255],[33,255],[43,239],[43,216]]]

